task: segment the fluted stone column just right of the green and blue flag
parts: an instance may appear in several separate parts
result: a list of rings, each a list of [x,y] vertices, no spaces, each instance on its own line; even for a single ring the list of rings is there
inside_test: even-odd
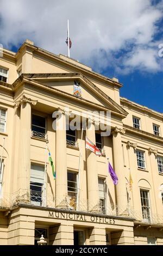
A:
[[[67,197],[66,112],[58,109],[56,119],[56,206],[65,208]]]

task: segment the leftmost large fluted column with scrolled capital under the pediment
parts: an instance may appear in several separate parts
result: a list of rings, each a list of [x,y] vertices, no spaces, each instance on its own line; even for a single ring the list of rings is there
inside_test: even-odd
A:
[[[31,132],[31,105],[37,101],[23,95],[16,106],[21,106],[20,139],[18,153],[18,190],[21,194],[27,193],[30,188],[30,132]]]

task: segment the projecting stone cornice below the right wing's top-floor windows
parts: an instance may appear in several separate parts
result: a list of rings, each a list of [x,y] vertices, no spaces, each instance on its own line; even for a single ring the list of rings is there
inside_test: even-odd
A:
[[[163,142],[163,137],[159,137],[159,136],[156,136],[152,133],[149,133],[149,132],[146,132],[146,131],[142,131],[142,130],[138,130],[132,126],[129,126],[129,125],[126,125],[126,124],[123,124],[123,127],[126,129],[126,132],[131,132],[135,135],[141,135],[142,137],[145,137],[145,138],[149,138],[149,139],[153,139],[154,141],[158,141],[158,142]]]

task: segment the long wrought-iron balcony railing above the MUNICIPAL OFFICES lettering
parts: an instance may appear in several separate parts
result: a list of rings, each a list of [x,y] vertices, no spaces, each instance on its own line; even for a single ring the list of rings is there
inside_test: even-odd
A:
[[[60,203],[56,205],[56,202]],[[3,198],[0,199],[0,210],[4,211],[5,209],[13,209],[19,204],[28,204],[42,207],[45,206],[52,209],[57,208],[81,212],[91,212],[95,214],[115,217],[133,218],[135,219],[135,224],[153,224],[163,227],[163,215],[158,215],[154,212],[150,212],[150,216],[146,216],[145,213],[142,214],[141,210],[137,211],[130,206],[127,206],[126,210],[122,211],[117,204],[103,205],[100,201],[96,206],[93,207],[92,205],[92,210],[89,210],[87,200],[80,200],[79,204],[77,205],[77,200],[75,197],[67,196],[62,200],[57,200],[57,198],[54,198],[53,194],[46,194],[46,199],[43,204],[42,193],[31,190],[19,190],[13,194],[4,194]]]

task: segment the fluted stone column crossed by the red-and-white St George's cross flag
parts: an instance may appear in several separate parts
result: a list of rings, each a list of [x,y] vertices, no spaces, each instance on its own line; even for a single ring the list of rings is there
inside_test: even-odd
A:
[[[88,121],[86,137],[89,138],[91,142],[96,144],[95,124],[91,119]],[[89,211],[92,212],[98,211],[99,203],[96,157],[97,156],[93,152],[88,149],[86,150],[88,208]]]

